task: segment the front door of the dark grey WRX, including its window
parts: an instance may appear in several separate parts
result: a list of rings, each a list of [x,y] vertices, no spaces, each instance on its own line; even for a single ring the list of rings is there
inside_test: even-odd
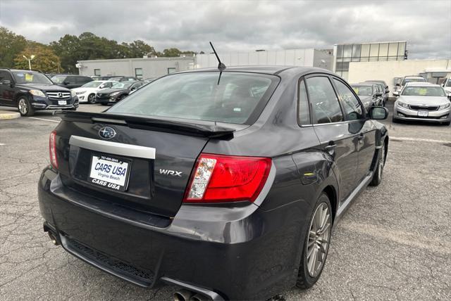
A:
[[[373,122],[366,117],[362,103],[352,89],[338,77],[333,77],[338,96],[345,109],[345,119],[349,122],[350,132],[357,135],[357,172],[356,183],[369,174],[371,162],[376,151],[376,129]]]

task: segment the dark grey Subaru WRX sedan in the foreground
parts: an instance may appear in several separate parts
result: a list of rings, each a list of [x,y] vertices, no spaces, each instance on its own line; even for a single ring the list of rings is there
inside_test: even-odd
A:
[[[381,183],[387,115],[319,68],[166,75],[104,113],[62,114],[39,179],[44,231],[137,286],[183,288],[175,300],[309,288],[333,225]]]

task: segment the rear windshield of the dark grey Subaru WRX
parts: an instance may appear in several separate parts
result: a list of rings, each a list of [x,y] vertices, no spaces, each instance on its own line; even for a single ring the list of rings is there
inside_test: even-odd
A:
[[[219,83],[218,83],[219,81]],[[147,84],[108,113],[252,124],[279,82],[273,75],[190,72]]]

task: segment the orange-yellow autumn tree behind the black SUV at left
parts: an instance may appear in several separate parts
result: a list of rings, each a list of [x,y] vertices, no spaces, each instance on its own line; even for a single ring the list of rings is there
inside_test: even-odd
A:
[[[54,51],[46,45],[30,42],[27,47],[14,58],[15,68],[28,70],[28,60],[23,56],[30,58],[35,56],[31,61],[32,70],[39,70],[45,73],[63,72],[61,68],[58,70],[60,60]]]

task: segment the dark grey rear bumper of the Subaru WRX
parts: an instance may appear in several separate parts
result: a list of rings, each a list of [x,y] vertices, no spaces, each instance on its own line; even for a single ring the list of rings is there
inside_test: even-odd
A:
[[[249,300],[295,284],[304,240],[304,219],[294,214],[299,203],[270,212],[254,204],[182,205],[168,223],[152,225],[86,205],[89,196],[63,186],[52,169],[44,169],[38,191],[45,225],[63,248],[138,286],[178,281]]]

